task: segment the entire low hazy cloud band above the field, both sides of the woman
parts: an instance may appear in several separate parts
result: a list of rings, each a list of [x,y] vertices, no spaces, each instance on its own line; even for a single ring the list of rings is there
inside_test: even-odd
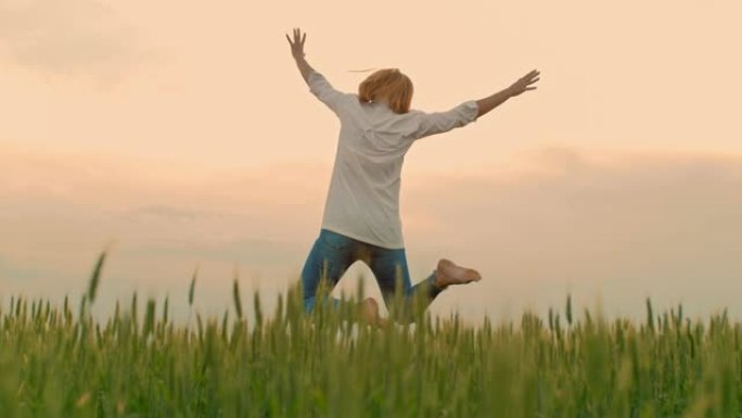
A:
[[[571,291],[576,301],[602,292],[605,307],[623,314],[642,313],[652,295],[658,306],[685,301],[689,314],[726,305],[742,315],[733,299],[742,292],[742,159],[568,149],[528,159],[536,168],[526,173],[406,179],[413,281],[440,257],[485,277],[442,294],[435,313],[456,306],[476,318],[507,306],[543,308]],[[299,182],[314,177],[298,168],[285,183],[260,185],[271,177],[265,168],[201,173],[193,178],[206,180],[190,185],[195,180],[146,177],[145,167],[104,157],[13,161],[5,178],[24,183],[0,181],[0,269],[12,266],[4,275],[29,278],[24,268],[43,268],[76,277],[73,288],[82,288],[94,255],[115,238],[107,271],[121,289],[179,288],[202,263],[214,294],[227,297],[235,264],[246,286],[258,277],[271,289],[287,286],[319,229],[324,190],[300,194],[318,186]],[[353,290],[355,282],[354,274],[342,286]],[[33,290],[41,282],[9,283]]]

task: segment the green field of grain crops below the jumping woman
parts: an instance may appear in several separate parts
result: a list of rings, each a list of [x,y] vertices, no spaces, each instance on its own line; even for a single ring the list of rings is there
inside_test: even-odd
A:
[[[417,314],[379,328],[345,307],[304,315],[290,290],[270,313],[247,297],[248,320],[235,281],[220,318],[176,324],[168,301],[135,294],[99,321],[103,259],[74,305],[0,307],[0,417],[742,416],[742,324],[725,313],[647,301],[635,324],[567,297],[514,324]]]

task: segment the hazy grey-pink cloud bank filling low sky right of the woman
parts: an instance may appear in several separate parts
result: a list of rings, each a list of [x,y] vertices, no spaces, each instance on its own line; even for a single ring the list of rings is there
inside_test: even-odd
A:
[[[604,292],[612,309],[641,309],[647,295],[738,305],[742,159],[572,154],[538,154],[550,168],[519,176],[426,178],[408,189],[407,216],[436,223],[408,244],[481,268],[489,280],[462,303],[479,291],[561,304],[572,288]]]

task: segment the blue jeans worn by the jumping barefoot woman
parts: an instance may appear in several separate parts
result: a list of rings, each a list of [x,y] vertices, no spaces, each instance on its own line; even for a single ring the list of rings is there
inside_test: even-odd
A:
[[[411,312],[410,304],[419,293],[420,301],[423,304],[421,307],[424,309],[442,291],[434,284],[435,270],[425,280],[414,287],[412,286],[410,273],[407,268],[405,249],[384,249],[328,229],[321,229],[302,270],[305,312],[314,309],[317,290],[323,278],[327,280],[327,291],[332,291],[345,270],[358,259],[371,268],[387,308],[393,306],[397,279],[400,280],[402,307],[407,313]],[[329,296],[320,297],[330,299],[335,306],[340,303],[338,300]]]

